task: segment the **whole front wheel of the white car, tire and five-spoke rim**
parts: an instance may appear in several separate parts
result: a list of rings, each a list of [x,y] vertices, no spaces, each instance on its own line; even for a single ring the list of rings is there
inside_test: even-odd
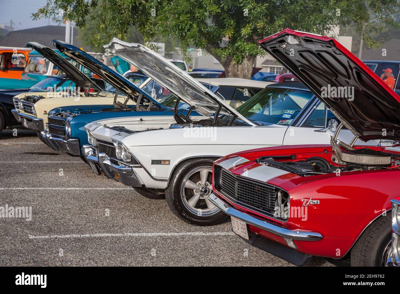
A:
[[[196,159],[182,164],[166,190],[172,212],[190,224],[211,226],[227,217],[208,200],[212,193],[212,162],[212,159]]]

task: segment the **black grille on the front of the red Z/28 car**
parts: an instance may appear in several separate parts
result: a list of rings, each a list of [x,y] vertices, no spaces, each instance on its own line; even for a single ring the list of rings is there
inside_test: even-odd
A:
[[[276,187],[234,176],[221,168],[220,192],[243,206],[274,214]]]

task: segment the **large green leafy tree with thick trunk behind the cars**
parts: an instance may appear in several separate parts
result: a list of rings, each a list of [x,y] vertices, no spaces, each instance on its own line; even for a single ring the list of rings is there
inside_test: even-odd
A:
[[[370,34],[385,26],[400,28],[394,17],[399,6],[399,0],[103,0],[102,5],[97,0],[48,0],[33,17],[66,18],[81,28],[90,10],[100,8],[94,41],[102,34],[126,39],[133,25],[145,43],[173,36],[186,59],[186,49],[195,46],[212,54],[226,76],[250,78],[256,56],[265,55],[258,46],[264,36],[286,27],[326,34],[332,26],[352,24],[365,44],[377,47]]]

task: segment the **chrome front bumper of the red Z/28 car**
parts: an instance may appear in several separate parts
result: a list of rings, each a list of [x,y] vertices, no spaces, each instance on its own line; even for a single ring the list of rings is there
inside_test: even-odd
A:
[[[223,212],[228,214],[229,216],[233,216],[235,218],[239,218],[240,220],[246,222],[246,224],[251,224],[261,230],[270,232],[277,236],[280,236],[285,239],[291,240],[301,240],[301,241],[318,241],[322,239],[322,235],[320,233],[315,232],[304,232],[300,230],[289,230],[286,228],[282,228],[280,226],[276,226],[269,222],[260,220],[255,218],[254,216],[250,216],[241,212],[235,208],[229,207],[223,202],[220,198],[218,198],[214,193],[208,196],[208,200],[210,200],[215,206],[220,208]]]

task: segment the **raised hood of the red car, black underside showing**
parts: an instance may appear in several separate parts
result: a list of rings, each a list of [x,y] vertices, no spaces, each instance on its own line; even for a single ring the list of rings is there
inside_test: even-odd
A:
[[[259,43],[354,135],[400,140],[400,96],[338,41],[286,28]]]

